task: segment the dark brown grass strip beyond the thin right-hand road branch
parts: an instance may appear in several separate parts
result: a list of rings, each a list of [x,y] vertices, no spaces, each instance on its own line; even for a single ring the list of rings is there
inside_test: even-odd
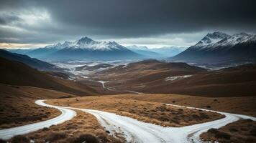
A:
[[[122,94],[119,99],[178,104],[188,107],[213,109],[219,112],[247,114],[256,117],[256,97],[196,97],[179,94]]]

